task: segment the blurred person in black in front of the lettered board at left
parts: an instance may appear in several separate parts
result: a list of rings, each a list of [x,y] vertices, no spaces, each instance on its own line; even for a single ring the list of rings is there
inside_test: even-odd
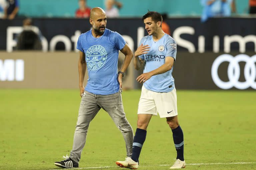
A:
[[[32,25],[32,20],[27,18],[23,20],[23,31],[18,35],[18,50],[41,50],[42,38],[40,30]]]

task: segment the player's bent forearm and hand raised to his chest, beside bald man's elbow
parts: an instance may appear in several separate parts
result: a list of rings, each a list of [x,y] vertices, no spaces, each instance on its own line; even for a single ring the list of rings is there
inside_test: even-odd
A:
[[[136,70],[141,69],[144,60],[141,59],[139,56],[142,54],[147,54],[147,51],[149,51],[149,46],[148,45],[143,45],[141,44],[137,50],[134,53],[135,58],[133,59],[133,65],[135,67]]]

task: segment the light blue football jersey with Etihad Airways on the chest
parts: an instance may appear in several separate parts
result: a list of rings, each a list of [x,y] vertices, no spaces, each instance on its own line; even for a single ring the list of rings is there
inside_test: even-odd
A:
[[[173,57],[176,60],[177,44],[175,40],[168,34],[158,40],[153,41],[152,36],[145,36],[141,39],[140,44],[149,45],[147,54],[142,54],[139,57],[145,60],[143,73],[150,72],[159,68],[165,63],[165,57]],[[154,92],[170,92],[174,89],[174,78],[172,70],[152,76],[149,80],[143,83],[144,87]]]

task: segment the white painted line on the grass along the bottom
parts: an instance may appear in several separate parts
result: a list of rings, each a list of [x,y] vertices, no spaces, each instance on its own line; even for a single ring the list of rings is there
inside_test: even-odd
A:
[[[231,165],[231,164],[256,164],[256,162],[229,162],[229,163],[190,163],[186,165]],[[143,165],[139,165],[143,166]],[[172,165],[144,165],[144,166],[172,166]],[[74,168],[74,169],[103,169],[103,168],[117,168],[118,166],[102,166],[102,167],[85,167],[85,168]],[[50,169],[60,170],[60,169]]]

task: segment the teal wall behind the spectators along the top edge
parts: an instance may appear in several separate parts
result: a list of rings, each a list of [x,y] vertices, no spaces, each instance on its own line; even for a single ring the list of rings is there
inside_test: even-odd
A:
[[[21,15],[28,15],[33,17],[74,17],[74,11],[78,8],[76,0],[47,0],[33,1],[23,0],[20,2]],[[170,16],[200,16],[202,6],[200,0],[121,0],[123,8],[120,9],[121,17],[137,17],[141,18],[145,11],[154,8],[160,13],[168,13]],[[143,3],[143,5],[141,5]],[[105,8],[104,0],[95,0],[87,2],[89,7]],[[152,5],[154,4],[154,5]],[[243,0],[236,0],[237,14],[246,15],[248,13],[248,3]],[[40,10],[37,10],[39,9]]]

